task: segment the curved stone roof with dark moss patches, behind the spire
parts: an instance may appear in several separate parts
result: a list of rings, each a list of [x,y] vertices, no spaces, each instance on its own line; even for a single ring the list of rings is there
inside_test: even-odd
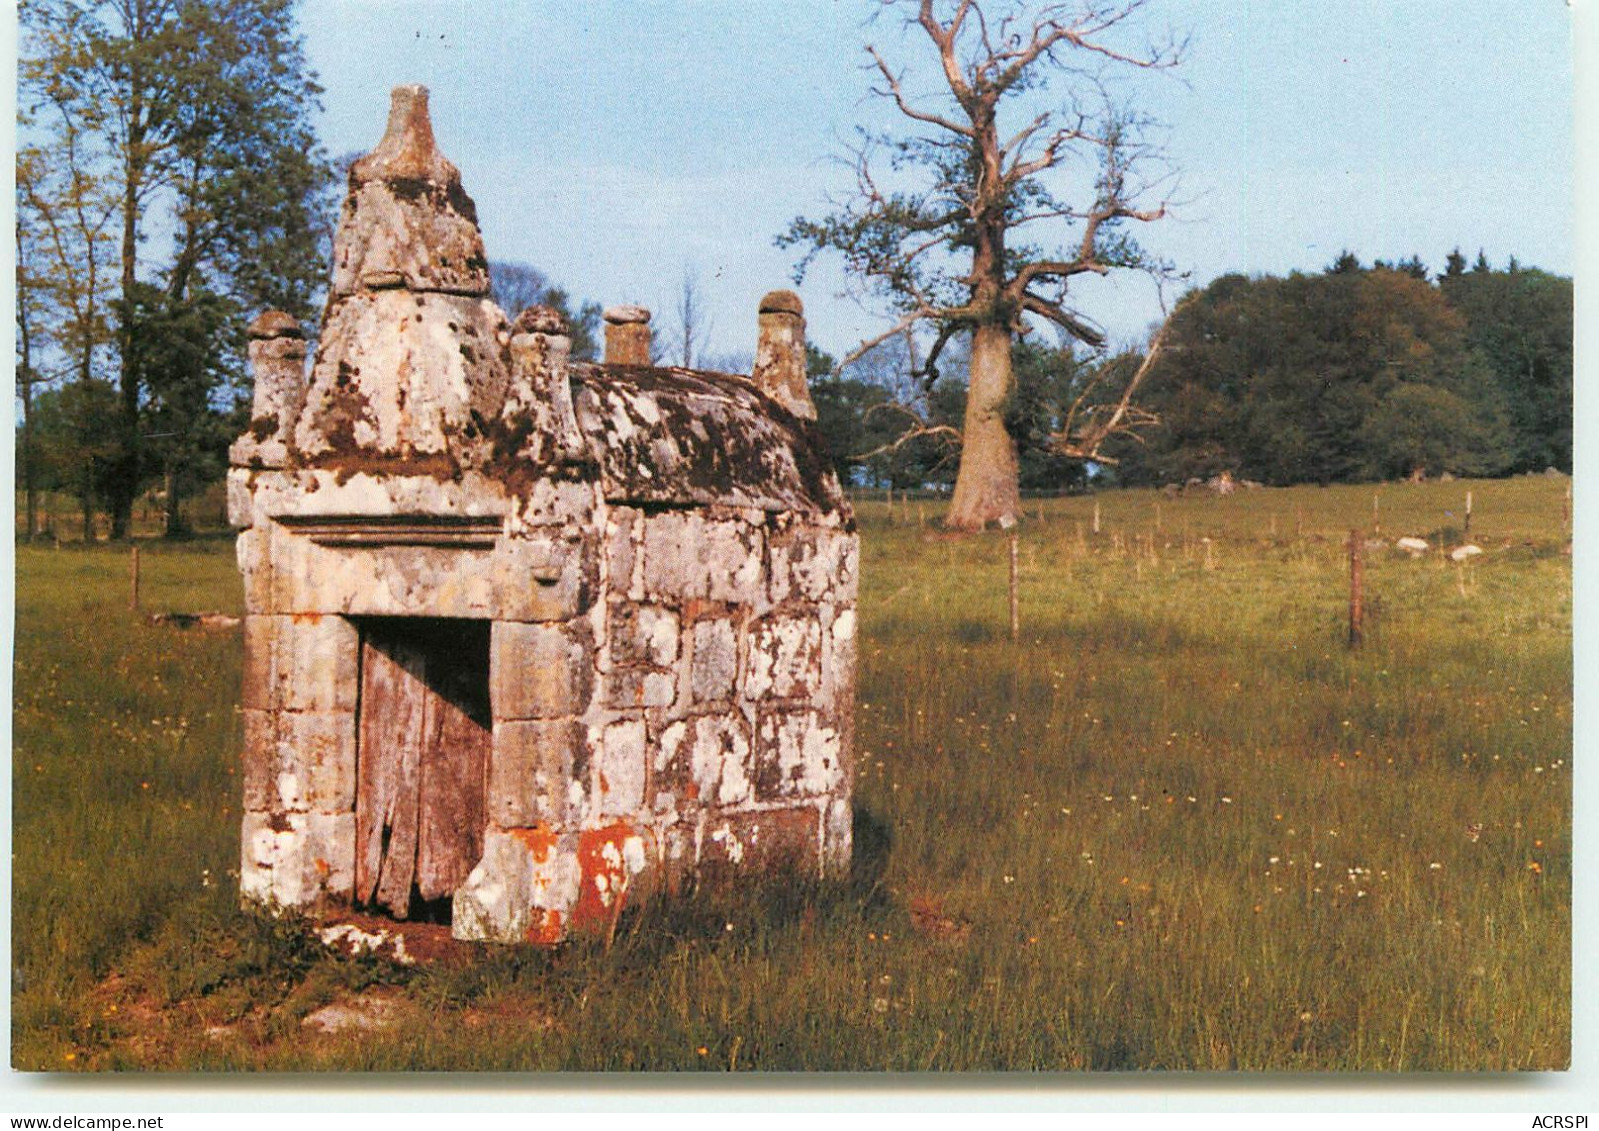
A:
[[[822,512],[844,502],[815,424],[748,378],[574,363],[571,379],[612,502]]]

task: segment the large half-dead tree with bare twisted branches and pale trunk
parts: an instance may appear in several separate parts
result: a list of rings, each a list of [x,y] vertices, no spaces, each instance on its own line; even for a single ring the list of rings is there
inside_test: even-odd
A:
[[[886,6],[895,6],[886,0]],[[1129,222],[1164,216],[1146,205],[1143,178],[1154,150],[1145,122],[1105,94],[1102,70],[1172,66],[1170,48],[1127,48],[1142,0],[1119,5],[1025,5],[1003,0],[919,0],[907,24],[931,48],[940,94],[923,98],[923,77],[907,77],[875,46],[881,85],[875,93],[908,120],[908,134],[862,131],[854,154],[857,192],[822,219],[795,219],[779,237],[812,258],[836,251],[871,294],[887,302],[895,325],[870,346],[910,328],[937,326],[921,374],[931,387],[937,360],[956,334],[971,342],[971,378],[961,434],[959,475],[947,525],[980,530],[1020,510],[1015,438],[1006,430],[1015,392],[1012,346],[1030,318],[1075,341],[1102,346],[1103,334],[1070,302],[1071,280],[1118,269],[1164,270],[1137,243]],[[1044,102],[1051,80],[1063,78],[1070,109]],[[1103,94],[1095,112],[1087,96]],[[891,179],[879,179],[879,154]],[[1089,163],[1099,173],[1083,198],[1057,195],[1062,166]],[[903,186],[903,187],[902,187]],[[1035,226],[1054,230],[1033,243]],[[1063,251],[1051,251],[1057,240]],[[1129,390],[1130,392],[1130,390]],[[1105,418],[1111,419],[1111,418]],[[1091,429],[1062,445],[1092,456],[1105,434]]]

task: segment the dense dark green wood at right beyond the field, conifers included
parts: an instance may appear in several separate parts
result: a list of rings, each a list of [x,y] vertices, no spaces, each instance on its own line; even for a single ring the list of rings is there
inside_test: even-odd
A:
[[[1572,282],[1514,261],[1225,275],[1177,309],[1122,483],[1273,485],[1572,466]]]

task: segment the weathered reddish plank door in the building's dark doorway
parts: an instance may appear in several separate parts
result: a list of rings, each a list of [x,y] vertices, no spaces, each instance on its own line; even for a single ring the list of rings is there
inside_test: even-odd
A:
[[[357,902],[406,918],[461,886],[483,854],[491,737],[486,622],[361,622]]]

